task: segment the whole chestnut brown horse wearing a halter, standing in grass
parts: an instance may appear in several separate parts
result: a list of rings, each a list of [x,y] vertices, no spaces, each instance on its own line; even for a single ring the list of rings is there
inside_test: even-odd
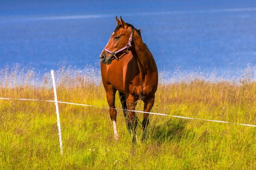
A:
[[[137,100],[141,99],[144,102],[144,111],[150,112],[157,91],[158,72],[154,57],[144,44],[140,30],[125,23],[122,17],[120,19],[116,17],[116,29],[100,54],[101,75],[111,108],[109,112],[115,139],[118,139],[115,94],[119,91],[127,128],[132,135],[132,142],[136,142],[137,117],[133,111]],[[143,115],[143,141],[149,122],[148,116],[148,113]]]

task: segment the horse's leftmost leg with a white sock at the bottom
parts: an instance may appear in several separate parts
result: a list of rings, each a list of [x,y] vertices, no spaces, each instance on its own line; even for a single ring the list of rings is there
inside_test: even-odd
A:
[[[110,119],[113,122],[113,129],[114,129],[114,138],[117,140],[119,138],[117,129],[116,129],[116,107],[115,107],[115,96],[116,96],[116,89],[113,88],[112,85],[109,85],[106,90],[108,105],[110,107]]]

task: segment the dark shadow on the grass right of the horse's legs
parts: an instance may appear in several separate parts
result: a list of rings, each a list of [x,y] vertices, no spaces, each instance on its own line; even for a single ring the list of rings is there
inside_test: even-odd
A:
[[[157,143],[179,142],[184,137],[194,135],[191,130],[186,129],[187,123],[187,120],[173,121],[169,119],[158,125],[151,124],[148,129],[148,139]]]

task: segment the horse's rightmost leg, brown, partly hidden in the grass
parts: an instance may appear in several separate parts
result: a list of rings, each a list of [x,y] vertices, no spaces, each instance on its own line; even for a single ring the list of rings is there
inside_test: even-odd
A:
[[[154,105],[154,98],[150,100],[146,100],[144,102],[144,111],[150,112],[153,105]],[[142,121],[142,127],[143,127],[142,141],[145,141],[147,130],[148,130],[148,123],[149,123],[149,113],[144,113],[143,121]]]

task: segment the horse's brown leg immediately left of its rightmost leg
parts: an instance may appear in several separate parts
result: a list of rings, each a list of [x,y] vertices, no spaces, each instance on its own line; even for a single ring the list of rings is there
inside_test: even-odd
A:
[[[137,127],[137,117],[135,115],[135,98],[132,95],[129,95],[126,99],[126,105],[128,110],[127,115],[127,123],[128,123],[128,130],[132,136],[132,142],[136,143],[136,127]]]

